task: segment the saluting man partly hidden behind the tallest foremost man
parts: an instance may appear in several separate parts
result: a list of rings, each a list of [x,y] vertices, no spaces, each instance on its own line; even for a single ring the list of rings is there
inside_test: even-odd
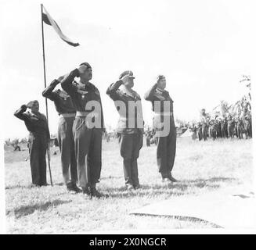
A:
[[[60,89],[53,91],[61,80],[63,77],[53,80],[49,87],[46,87],[42,92],[42,95],[54,102],[56,111],[59,113],[58,144],[64,184],[66,184],[68,191],[78,193],[81,192],[81,189],[77,186],[78,172],[72,133],[76,109],[66,91]]]

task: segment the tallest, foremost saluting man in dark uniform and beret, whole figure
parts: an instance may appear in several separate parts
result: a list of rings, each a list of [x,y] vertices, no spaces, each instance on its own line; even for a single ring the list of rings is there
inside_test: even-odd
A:
[[[75,77],[80,78],[78,84],[74,84]],[[99,193],[96,189],[102,166],[104,127],[99,90],[89,82],[91,79],[92,67],[88,62],[83,62],[78,69],[72,70],[64,77],[61,86],[72,98],[76,109],[73,135],[78,168],[78,185],[85,195],[106,198],[107,195]]]

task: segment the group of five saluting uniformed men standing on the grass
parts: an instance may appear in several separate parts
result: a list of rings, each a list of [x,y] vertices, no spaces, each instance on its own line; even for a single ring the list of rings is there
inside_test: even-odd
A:
[[[133,90],[134,78],[132,71],[124,71],[106,90],[106,94],[114,100],[120,115],[117,135],[128,190],[140,187],[137,159],[143,144],[141,98]],[[88,62],[83,62],[77,69],[53,80],[42,95],[54,102],[59,113],[58,143],[63,181],[67,185],[67,190],[83,192],[91,197],[106,198],[108,195],[103,195],[96,189],[102,168],[102,135],[105,127],[99,90],[89,82],[91,79],[92,67]],[[61,84],[62,89],[55,90],[58,84]],[[157,165],[162,180],[169,183],[177,181],[171,176],[175,161],[176,129],[173,101],[165,87],[165,77],[159,76],[157,84],[146,92],[145,99],[152,102],[152,109],[155,112],[153,126],[156,130],[161,130],[161,121],[168,117],[170,130],[164,136],[159,135],[157,140]],[[156,101],[160,103],[160,109],[156,109]],[[134,109],[130,109],[131,103]],[[168,112],[164,109],[166,103]],[[31,109],[31,112],[26,112],[27,108]],[[39,112],[38,101],[22,105],[14,115],[23,120],[30,131],[32,183],[38,186],[45,185],[45,152],[50,139],[47,120]],[[99,122],[98,126],[91,126],[96,124],[96,120]]]

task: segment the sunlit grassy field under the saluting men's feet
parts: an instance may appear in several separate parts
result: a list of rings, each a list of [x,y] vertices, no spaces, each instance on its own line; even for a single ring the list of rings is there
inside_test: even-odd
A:
[[[178,138],[173,176],[176,184],[162,184],[157,172],[156,147],[146,147],[139,157],[142,188],[126,191],[117,141],[103,141],[103,169],[99,190],[110,195],[92,200],[70,194],[62,183],[58,148],[52,148],[54,186],[31,187],[26,145],[21,152],[5,148],[5,199],[9,234],[53,234],[109,230],[169,230],[213,228],[211,223],[161,216],[132,216],[143,205],[178,195],[220,192],[225,187],[251,185],[252,140],[192,141]],[[49,182],[49,175],[48,175]]]

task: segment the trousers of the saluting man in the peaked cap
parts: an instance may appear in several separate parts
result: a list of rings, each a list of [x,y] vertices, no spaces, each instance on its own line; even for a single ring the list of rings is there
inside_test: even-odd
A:
[[[143,134],[140,131],[134,134],[120,134],[119,144],[123,157],[125,184],[137,186],[139,184],[137,159],[143,145]]]

